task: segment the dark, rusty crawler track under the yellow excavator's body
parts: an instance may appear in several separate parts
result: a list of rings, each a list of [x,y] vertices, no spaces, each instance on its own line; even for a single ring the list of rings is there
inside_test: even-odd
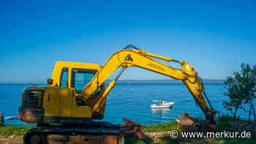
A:
[[[92,122],[86,125],[38,125],[29,130],[24,144],[122,144],[123,132],[128,129],[108,122]]]

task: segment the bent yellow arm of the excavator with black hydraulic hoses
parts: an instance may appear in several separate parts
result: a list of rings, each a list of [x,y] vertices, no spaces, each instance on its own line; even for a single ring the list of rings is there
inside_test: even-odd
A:
[[[153,58],[179,63],[181,64],[181,69],[170,67],[154,60]],[[118,73],[116,79],[109,83],[108,88],[105,90],[104,94],[102,94],[101,99],[99,99],[97,104],[94,105],[94,111],[99,110],[100,107],[105,104],[106,96],[116,85],[116,80],[124,69],[127,69],[128,67],[140,67],[177,80],[182,80],[189,92],[194,97],[197,105],[199,105],[201,110],[203,110],[203,113],[206,115],[206,119],[210,122],[210,124],[215,124],[214,119],[216,111],[213,109],[213,107],[211,107],[211,103],[208,101],[208,98],[204,92],[203,81],[197,76],[197,72],[195,72],[195,69],[189,65],[189,63],[186,61],[176,61],[172,58],[158,56],[153,53],[147,53],[144,50],[135,48],[133,45],[128,45],[126,48],[118,50],[116,53],[113,53],[110,58],[108,58],[101,69],[99,69],[91,81],[83,88],[83,96],[85,96],[86,99],[89,98],[91,94],[93,94],[94,91],[96,91],[96,89],[99,88],[99,86],[101,86],[102,83],[104,83],[105,80],[107,80],[107,78],[119,67],[123,67],[123,69],[121,69],[121,71]],[[203,96],[203,94],[205,96]],[[206,100],[208,104],[206,103]],[[210,107],[208,107],[208,105]]]

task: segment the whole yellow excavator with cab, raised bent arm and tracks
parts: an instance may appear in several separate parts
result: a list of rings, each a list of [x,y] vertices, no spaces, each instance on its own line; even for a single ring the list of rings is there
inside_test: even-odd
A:
[[[181,64],[181,68],[163,64],[157,58]],[[208,123],[215,124],[216,111],[205,94],[203,81],[189,63],[128,45],[113,53],[102,67],[57,61],[48,86],[25,88],[18,118],[37,126],[24,135],[24,143],[124,143],[124,134],[129,133],[127,127],[93,119],[104,117],[107,96],[128,67],[140,67],[182,80]],[[105,80],[118,68],[121,68],[118,75],[105,88]]]

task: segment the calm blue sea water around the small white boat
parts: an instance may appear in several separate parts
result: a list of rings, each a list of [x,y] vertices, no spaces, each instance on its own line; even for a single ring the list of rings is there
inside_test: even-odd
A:
[[[21,93],[23,88],[30,85],[0,85],[0,111],[6,118],[18,115]],[[206,94],[215,110],[227,113],[222,106],[226,99],[223,84],[205,84]],[[152,100],[176,100],[172,109],[151,110]],[[117,84],[108,95],[108,101],[103,121],[122,124],[127,117],[140,124],[159,124],[175,120],[180,112],[189,113],[195,117],[204,117],[200,107],[187,88],[176,84]],[[6,121],[10,124],[24,124],[19,120]]]

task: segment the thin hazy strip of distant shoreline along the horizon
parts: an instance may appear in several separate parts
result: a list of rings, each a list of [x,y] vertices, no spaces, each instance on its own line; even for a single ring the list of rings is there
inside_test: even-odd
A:
[[[111,80],[106,80],[105,83],[110,83]],[[203,83],[221,84],[224,80],[205,79]],[[182,83],[181,80],[118,80],[117,84],[175,84]],[[42,82],[0,82],[0,85],[47,85]]]

